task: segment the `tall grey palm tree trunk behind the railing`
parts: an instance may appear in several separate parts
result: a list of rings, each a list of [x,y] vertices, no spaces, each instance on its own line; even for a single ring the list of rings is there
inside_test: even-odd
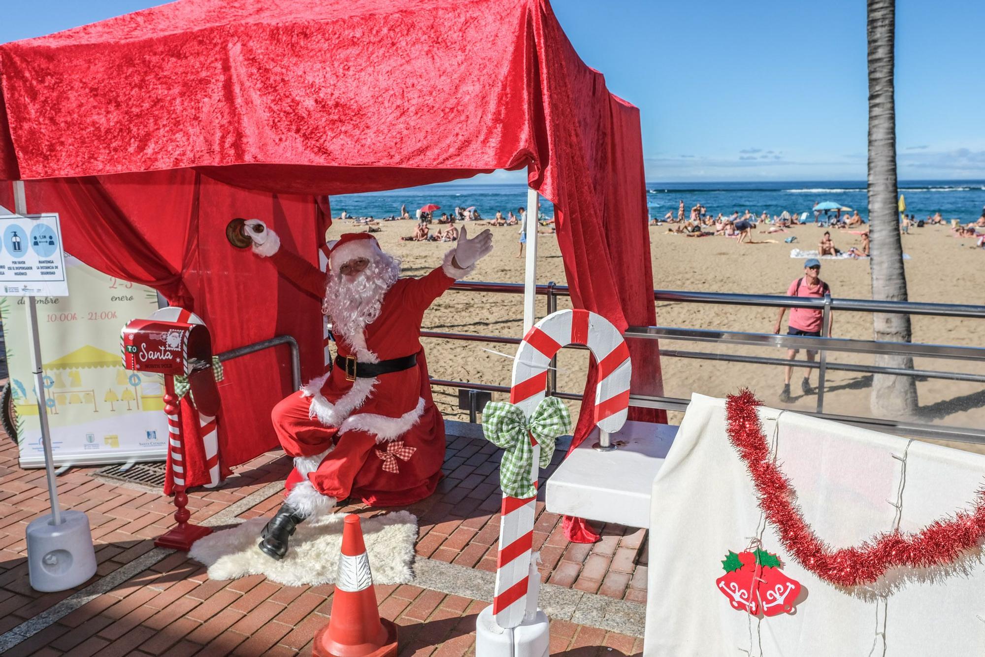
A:
[[[896,115],[893,100],[895,0],[868,0],[869,11],[869,230],[872,297],[905,301],[906,273],[896,216]],[[876,340],[910,341],[910,316],[873,313]],[[913,368],[913,359],[877,356],[876,364]],[[876,374],[872,409],[877,416],[912,416],[917,409],[912,376]]]

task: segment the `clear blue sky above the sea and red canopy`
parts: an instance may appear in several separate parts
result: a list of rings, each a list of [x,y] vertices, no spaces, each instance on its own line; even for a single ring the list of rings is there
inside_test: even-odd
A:
[[[0,42],[162,3],[5,4]],[[863,0],[553,6],[582,59],[640,107],[648,180],[865,178]],[[896,23],[900,177],[985,178],[985,3],[897,0]]]

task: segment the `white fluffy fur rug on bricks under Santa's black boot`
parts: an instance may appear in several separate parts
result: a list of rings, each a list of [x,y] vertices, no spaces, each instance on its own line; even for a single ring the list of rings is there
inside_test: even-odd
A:
[[[210,579],[265,575],[286,584],[331,584],[342,549],[345,514],[336,513],[297,525],[285,558],[267,557],[257,545],[269,518],[252,518],[196,541],[188,556],[209,568]],[[406,584],[414,578],[414,542],[418,518],[408,511],[362,519],[362,536],[369,555],[372,579],[377,584]]]

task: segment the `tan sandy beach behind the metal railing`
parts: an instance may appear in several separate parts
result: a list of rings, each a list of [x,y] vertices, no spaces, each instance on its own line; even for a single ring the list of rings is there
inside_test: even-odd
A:
[[[421,276],[437,266],[445,251],[453,244],[446,242],[406,242],[400,237],[413,232],[415,222],[396,221],[380,224],[375,236],[384,250],[398,255],[403,261],[405,276]],[[470,232],[486,227],[466,224]],[[440,227],[434,227],[440,228]],[[364,230],[352,222],[336,222],[329,231],[334,238],[346,231]],[[523,281],[523,259],[516,257],[518,232],[516,227],[493,228],[494,250],[480,262],[471,281],[518,283]],[[782,295],[791,281],[803,275],[804,260],[790,257],[792,246],[816,249],[823,230],[816,226],[798,226],[788,232],[766,234],[754,231],[757,241],[774,242],[737,244],[733,238],[714,236],[701,239],[683,234],[668,233],[666,226],[651,227],[651,258],[654,286],[660,290],[682,290],[722,293]],[[845,251],[861,246],[861,237],[848,231],[831,230],[835,246]],[[473,232],[474,234],[474,232]],[[783,239],[797,235],[796,244]],[[982,303],[982,292],[967,285],[959,272],[975,272],[985,254],[974,246],[971,238],[956,238],[942,226],[912,229],[903,235],[903,248],[909,254],[906,277],[911,300],[946,303]],[[871,298],[869,263],[865,259],[821,261],[821,279],[831,288],[832,296]],[[557,238],[540,235],[538,251],[538,281],[555,281],[565,285]],[[569,307],[568,299],[558,299],[558,307]],[[546,311],[546,300],[539,299],[538,316]],[[696,303],[657,304],[657,324],[670,327],[716,328],[737,331],[769,332],[777,311],[771,308],[737,307]],[[521,334],[522,296],[449,292],[437,299],[425,316],[425,328],[433,331],[476,333],[518,337]],[[952,319],[914,316],[913,341],[932,344],[977,346],[981,328],[973,319]],[[784,320],[783,330],[786,331]],[[835,313],[833,337],[873,338],[872,315],[869,313]],[[427,361],[431,376],[460,381],[476,381],[509,385],[511,361],[483,348],[512,354],[509,345],[426,339]],[[784,358],[786,352],[776,349],[739,350],[731,346],[666,341],[665,349],[691,352],[741,353],[750,356]],[[803,358],[803,353],[800,358]],[[580,392],[585,380],[587,353],[563,350],[558,359],[558,389]],[[829,354],[828,362],[872,363],[871,357]],[[691,392],[724,396],[740,386],[748,386],[768,405],[794,410],[813,411],[817,396],[802,395],[800,379],[804,370],[794,371],[793,399],[781,404],[778,395],[783,383],[781,367],[727,363],[681,358],[662,359],[665,394],[688,398]],[[923,369],[981,372],[974,362],[918,360]],[[818,375],[812,373],[817,385]],[[978,427],[985,421],[985,391],[977,383],[942,379],[921,379],[918,384],[919,418],[922,423],[954,427]],[[825,385],[824,412],[845,415],[870,414],[871,377],[868,375],[828,370]],[[446,417],[464,418],[457,406],[457,391],[435,388],[435,400]],[[504,396],[503,396],[504,397]],[[572,405],[572,410],[574,410]],[[672,414],[672,422],[679,422]],[[960,446],[954,443],[955,446]]]

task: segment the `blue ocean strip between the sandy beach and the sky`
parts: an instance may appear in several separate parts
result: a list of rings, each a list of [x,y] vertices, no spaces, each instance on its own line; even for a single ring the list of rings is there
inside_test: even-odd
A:
[[[868,216],[866,183],[864,181],[790,181],[790,182],[647,182],[647,206],[651,217],[662,218],[668,211],[677,214],[678,204],[684,201],[687,212],[700,203],[712,215],[731,215],[750,210],[756,215],[766,211],[770,216],[784,210],[790,213],[809,212],[818,201],[833,201]],[[970,222],[977,219],[985,207],[985,180],[905,180],[899,191],[906,199],[907,214],[917,219],[940,212],[946,219]],[[523,184],[492,184],[448,182],[424,187],[411,187],[369,194],[333,196],[332,214],[338,217],[345,210],[353,217],[380,219],[400,215],[400,206],[407,205],[411,216],[427,203],[441,206],[437,211],[475,206],[484,219],[492,219],[497,210],[506,216],[516,213],[527,204],[527,188]],[[541,199],[541,213],[551,217],[554,206]],[[812,216],[813,221],[813,216]]]

